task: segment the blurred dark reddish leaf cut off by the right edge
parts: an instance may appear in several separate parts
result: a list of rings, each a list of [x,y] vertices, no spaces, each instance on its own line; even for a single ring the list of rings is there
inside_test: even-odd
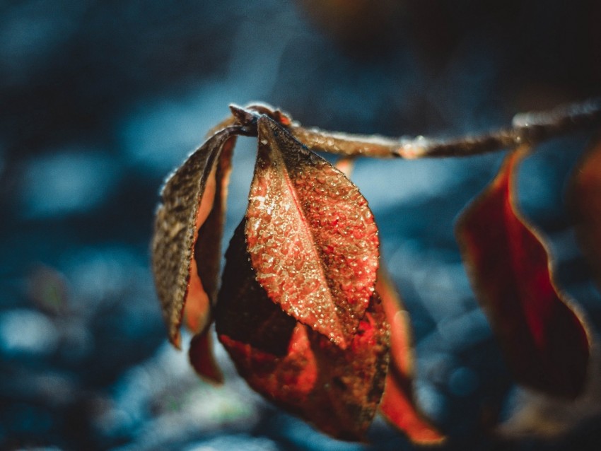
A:
[[[601,288],[601,139],[576,168],[569,199],[580,247]]]

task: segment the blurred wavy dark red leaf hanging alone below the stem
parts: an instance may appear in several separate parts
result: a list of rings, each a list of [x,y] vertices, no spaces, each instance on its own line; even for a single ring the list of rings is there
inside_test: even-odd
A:
[[[572,399],[584,387],[589,336],[580,312],[555,286],[547,247],[516,204],[515,177],[527,152],[507,156],[463,213],[457,239],[515,379]]]

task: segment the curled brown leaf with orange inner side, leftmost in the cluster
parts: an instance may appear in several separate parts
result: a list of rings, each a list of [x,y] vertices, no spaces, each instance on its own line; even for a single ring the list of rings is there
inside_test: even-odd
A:
[[[207,139],[170,175],[161,191],[162,203],[156,211],[152,239],[152,266],[169,339],[178,348],[187,303],[189,324],[196,332],[209,323],[209,296],[216,290],[220,259],[218,237],[228,156],[233,137],[239,132],[240,127],[227,127]],[[222,164],[217,169],[220,156]],[[203,258],[197,266],[194,254],[199,254],[200,248]]]

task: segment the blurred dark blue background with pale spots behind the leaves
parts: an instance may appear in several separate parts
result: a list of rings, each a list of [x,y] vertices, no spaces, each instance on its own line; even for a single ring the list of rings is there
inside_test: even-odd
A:
[[[220,347],[226,384],[193,374],[149,271],[158,189],[231,102],[323,129],[459,136],[599,95],[600,23],[598,1],[0,1],[0,448],[414,449],[380,418],[369,444],[325,437],[251,392]],[[563,204],[589,137],[544,144],[520,201],[599,327]],[[239,142],[225,242],[255,157]],[[453,223],[501,158],[354,172],[412,315],[416,397],[453,435],[444,449],[596,450],[598,417],[551,441],[484,428],[510,415],[515,387]]]

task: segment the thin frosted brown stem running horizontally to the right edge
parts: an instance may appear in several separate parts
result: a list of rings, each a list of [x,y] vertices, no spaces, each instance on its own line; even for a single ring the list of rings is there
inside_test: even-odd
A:
[[[556,107],[544,112],[527,112],[513,117],[513,127],[456,139],[425,136],[390,139],[361,136],[320,129],[304,129],[293,122],[291,133],[314,151],[344,156],[375,158],[435,158],[471,156],[501,151],[520,144],[534,146],[553,136],[601,123],[601,98]]]

